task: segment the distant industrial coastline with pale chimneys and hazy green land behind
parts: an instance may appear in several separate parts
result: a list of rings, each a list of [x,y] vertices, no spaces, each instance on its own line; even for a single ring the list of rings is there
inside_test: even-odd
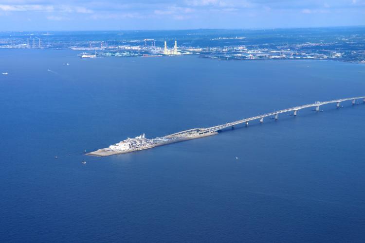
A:
[[[193,54],[218,60],[309,59],[365,63],[364,36],[364,27],[152,33],[0,32],[0,49],[69,49],[78,51],[80,58]]]

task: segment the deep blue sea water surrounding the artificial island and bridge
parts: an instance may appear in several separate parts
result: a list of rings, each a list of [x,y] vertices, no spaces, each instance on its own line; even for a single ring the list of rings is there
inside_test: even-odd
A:
[[[364,96],[364,65],[76,54],[0,51],[1,242],[364,242],[362,101],[136,153],[80,154]]]

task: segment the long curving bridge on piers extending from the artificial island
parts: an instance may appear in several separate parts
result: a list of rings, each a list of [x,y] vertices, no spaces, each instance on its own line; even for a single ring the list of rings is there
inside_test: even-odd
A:
[[[212,127],[208,127],[206,131],[204,131],[204,133],[208,133],[208,132],[216,132],[216,131],[219,131],[219,130],[222,130],[224,128],[227,128],[227,127],[234,127],[235,125],[238,125],[238,124],[241,124],[241,123],[245,123],[246,125],[248,125],[248,122],[249,121],[254,121],[254,120],[260,120],[260,122],[263,122],[264,121],[264,118],[265,117],[272,117],[274,116],[274,119],[277,120],[278,119],[278,115],[281,114],[281,113],[286,113],[286,112],[293,112],[293,116],[296,116],[297,115],[297,112],[298,110],[301,110],[301,109],[305,109],[305,108],[310,108],[310,107],[315,107],[315,110],[314,111],[320,111],[319,110],[319,107],[321,105],[324,105],[324,104],[332,104],[332,103],[336,103],[336,107],[341,107],[340,104],[341,102],[344,102],[344,101],[352,101],[352,104],[356,104],[356,100],[359,100],[359,99],[363,99],[363,102],[365,103],[365,96],[361,96],[361,97],[353,97],[353,98],[345,98],[345,99],[338,99],[338,100],[332,100],[332,101],[324,101],[324,102],[315,102],[313,104],[305,104],[305,105],[301,105],[301,106],[295,106],[295,107],[292,107],[292,108],[288,108],[288,109],[284,109],[284,110],[278,110],[278,111],[273,111],[273,112],[270,112],[270,113],[266,113],[266,114],[263,114],[263,115],[259,115],[259,116],[256,116],[256,117],[250,117],[250,118],[245,118],[245,119],[242,119],[242,120],[239,120],[239,121],[233,121],[233,122],[228,122],[228,123],[225,123],[225,124],[222,124],[222,125],[218,125],[218,126],[212,126]]]

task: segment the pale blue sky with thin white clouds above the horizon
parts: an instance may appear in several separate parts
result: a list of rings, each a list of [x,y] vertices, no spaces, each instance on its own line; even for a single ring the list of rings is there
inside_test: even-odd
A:
[[[365,0],[0,0],[0,31],[364,25]]]

